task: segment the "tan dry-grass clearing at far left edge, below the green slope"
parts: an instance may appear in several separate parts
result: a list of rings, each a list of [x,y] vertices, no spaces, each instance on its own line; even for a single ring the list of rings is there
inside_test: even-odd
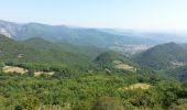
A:
[[[4,66],[2,67],[2,72],[3,73],[19,73],[19,74],[25,74],[28,73],[26,69],[21,68],[21,67],[16,67],[16,66]]]

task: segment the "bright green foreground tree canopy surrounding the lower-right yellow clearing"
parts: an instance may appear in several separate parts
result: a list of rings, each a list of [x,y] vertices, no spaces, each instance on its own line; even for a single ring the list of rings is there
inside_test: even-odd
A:
[[[154,70],[140,69],[138,73],[112,75],[103,72],[84,74],[61,70],[53,77],[34,77],[28,75],[0,74],[1,108],[29,110],[41,108],[59,108],[74,110],[123,110],[123,109],[167,109],[174,108],[177,100],[187,98],[187,86],[178,81],[162,81]],[[65,73],[65,74],[63,74]],[[56,74],[56,73],[55,73]],[[152,80],[155,77],[154,81]],[[134,89],[121,91],[119,88],[146,82],[152,87],[147,90]]]

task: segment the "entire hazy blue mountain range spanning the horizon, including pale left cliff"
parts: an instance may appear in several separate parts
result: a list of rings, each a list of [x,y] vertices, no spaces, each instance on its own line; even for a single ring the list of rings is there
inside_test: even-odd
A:
[[[0,21],[0,33],[16,41],[42,37],[52,42],[76,45],[113,46],[124,44],[161,44],[166,42],[187,41],[184,35],[163,32],[139,32],[116,29],[86,29],[66,25],[48,25],[41,23],[14,23]]]

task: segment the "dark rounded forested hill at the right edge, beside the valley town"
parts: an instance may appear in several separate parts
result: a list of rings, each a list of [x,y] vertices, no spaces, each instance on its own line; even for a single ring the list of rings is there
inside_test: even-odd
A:
[[[133,59],[141,66],[166,69],[184,66],[187,63],[187,51],[179,44],[170,42],[138,54]]]

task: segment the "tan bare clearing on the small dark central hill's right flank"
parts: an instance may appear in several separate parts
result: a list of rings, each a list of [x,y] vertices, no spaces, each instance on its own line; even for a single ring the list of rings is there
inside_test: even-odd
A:
[[[116,65],[116,68],[123,69],[123,70],[136,70],[133,66],[123,64],[120,61],[114,61],[113,64]]]

